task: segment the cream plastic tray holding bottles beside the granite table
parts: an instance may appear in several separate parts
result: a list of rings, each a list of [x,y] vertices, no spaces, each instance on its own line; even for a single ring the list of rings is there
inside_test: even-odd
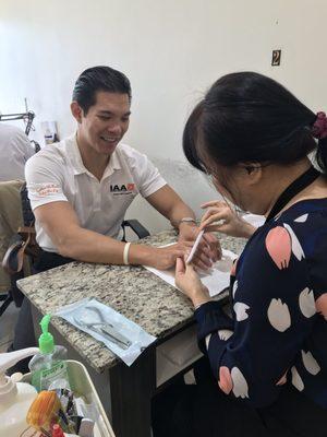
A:
[[[85,366],[73,359],[68,359],[66,364],[72,391],[83,395],[87,403],[95,402],[99,410],[101,420],[96,423],[94,437],[114,437],[107,414]],[[24,375],[23,381],[31,382],[31,374]]]

